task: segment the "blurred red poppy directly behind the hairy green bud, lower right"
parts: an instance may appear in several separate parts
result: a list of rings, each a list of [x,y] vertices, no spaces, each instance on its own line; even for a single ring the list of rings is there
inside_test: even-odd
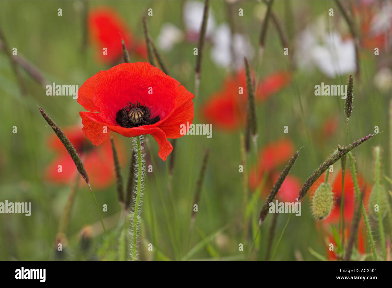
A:
[[[335,174],[336,173],[336,174]],[[335,174],[335,175],[334,175]],[[357,174],[358,185],[361,189],[365,184],[362,176]],[[321,175],[316,182],[313,183],[312,187],[310,187],[310,194],[313,195],[319,185],[324,182],[325,173]],[[339,214],[340,214],[340,203],[341,203],[341,194],[342,194],[342,171],[330,173],[328,183],[330,183],[332,187],[332,192],[334,193],[334,206],[332,207],[331,213],[329,216],[323,220],[332,223],[339,222]],[[366,185],[365,196],[363,202],[366,206],[368,196],[370,194],[371,187],[370,185]],[[345,183],[344,183],[344,217],[346,222],[351,222],[352,217],[354,216],[354,208],[355,208],[355,190],[354,183],[352,181],[350,169],[346,169],[345,171]]]

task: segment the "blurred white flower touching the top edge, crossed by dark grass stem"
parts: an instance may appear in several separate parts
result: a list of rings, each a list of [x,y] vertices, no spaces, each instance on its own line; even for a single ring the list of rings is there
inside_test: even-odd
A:
[[[183,17],[187,32],[199,34],[201,22],[203,22],[204,3],[199,1],[187,1],[184,5]],[[206,37],[212,35],[215,29],[215,19],[212,9],[209,9],[207,18]]]

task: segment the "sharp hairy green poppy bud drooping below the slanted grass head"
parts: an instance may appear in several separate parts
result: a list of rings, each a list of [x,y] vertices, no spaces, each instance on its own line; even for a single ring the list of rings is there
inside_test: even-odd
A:
[[[327,218],[334,205],[334,194],[329,183],[321,183],[312,198],[313,216],[318,220]]]

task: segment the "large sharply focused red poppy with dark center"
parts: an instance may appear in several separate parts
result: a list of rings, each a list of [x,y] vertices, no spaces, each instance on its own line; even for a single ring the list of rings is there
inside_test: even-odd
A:
[[[83,83],[78,95],[78,103],[90,111],[79,114],[83,132],[94,145],[105,141],[110,131],[125,137],[151,134],[163,161],[173,150],[167,138],[183,136],[193,120],[193,94],[146,62],[100,71]]]

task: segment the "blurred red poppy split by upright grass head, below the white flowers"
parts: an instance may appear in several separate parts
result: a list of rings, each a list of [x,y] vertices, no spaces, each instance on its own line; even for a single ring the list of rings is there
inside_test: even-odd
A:
[[[256,101],[267,100],[269,96],[283,89],[291,81],[287,72],[276,72],[258,85],[255,91]],[[240,94],[242,87],[242,94]],[[226,78],[223,88],[212,94],[202,108],[203,117],[224,130],[234,130],[241,127],[247,116],[247,85],[245,70],[239,71],[236,76]]]

